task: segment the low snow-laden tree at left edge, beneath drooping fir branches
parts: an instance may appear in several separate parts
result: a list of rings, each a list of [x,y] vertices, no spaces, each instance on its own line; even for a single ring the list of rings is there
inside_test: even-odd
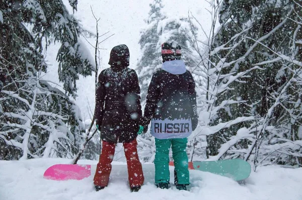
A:
[[[1,159],[72,158],[85,132],[79,108],[40,73],[24,75],[17,92],[2,91]]]

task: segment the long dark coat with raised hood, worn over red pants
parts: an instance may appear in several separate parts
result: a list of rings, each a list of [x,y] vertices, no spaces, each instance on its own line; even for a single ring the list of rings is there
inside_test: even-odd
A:
[[[137,74],[129,66],[129,49],[118,45],[111,50],[110,68],[98,79],[95,119],[101,139],[131,142],[137,136],[141,119],[140,89]]]

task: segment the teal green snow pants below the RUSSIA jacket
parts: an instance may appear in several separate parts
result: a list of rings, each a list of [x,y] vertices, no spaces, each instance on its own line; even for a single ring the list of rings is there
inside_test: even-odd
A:
[[[172,145],[172,155],[177,173],[178,184],[190,184],[188,156],[186,153],[187,138],[155,139],[155,183],[170,181],[169,150]]]

